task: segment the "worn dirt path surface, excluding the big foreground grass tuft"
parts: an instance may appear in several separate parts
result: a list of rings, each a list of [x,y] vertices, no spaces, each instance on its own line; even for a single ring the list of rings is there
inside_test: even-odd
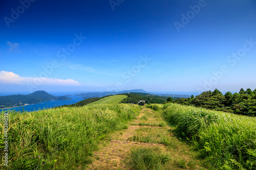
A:
[[[110,141],[100,144],[89,169],[130,169],[126,162],[131,149],[139,147],[159,147],[168,153],[172,160],[168,161],[167,169],[204,169],[187,145],[171,131],[158,112],[143,108],[127,129],[112,134]]]

